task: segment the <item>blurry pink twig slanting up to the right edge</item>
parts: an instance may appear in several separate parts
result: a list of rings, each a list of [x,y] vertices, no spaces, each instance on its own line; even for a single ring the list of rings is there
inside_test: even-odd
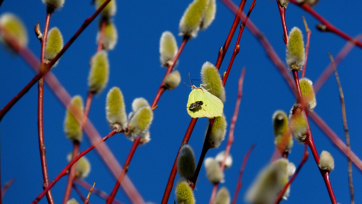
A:
[[[362,34],[359,34],[354,38],[354,40],[361,40]],[[346,42],[345,46],[340,50],[340,52],[337,54],[337,57],[334,59],[334,62],[336,64],[336,67],[338,64],[347,56],[347,54],[352,50],[354,47],[353,41]],[[321,76],[317,79],[317,81],[314,83],[314,92],[317,93],[319,89],[322,87],[322,85],[327,81],[329,76],[333,73],[333,66],[332,62],[325,68],[324,72],[321,74]]]

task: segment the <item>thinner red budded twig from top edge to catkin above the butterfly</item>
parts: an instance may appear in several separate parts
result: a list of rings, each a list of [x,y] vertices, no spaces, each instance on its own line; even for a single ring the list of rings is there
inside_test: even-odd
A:
[[[222,46],[219,50],[219,54],[218,54],[218,59],[216,60],[216,64],[215,67],[216,69],[220,69],[221,63],[224,60],[225,54],[227,52],[227,49],[229,48],[232,36],[234,36],[235,30],[237,25],[239,25],[240,22],[240,15],[243,12],[244,6],[245,6],[246,0],[241,0],[239,8],[237,9],[236,15],[235,15],[235,19],[231,25],[230,31],[228,36],[226,37],[224,46]]]

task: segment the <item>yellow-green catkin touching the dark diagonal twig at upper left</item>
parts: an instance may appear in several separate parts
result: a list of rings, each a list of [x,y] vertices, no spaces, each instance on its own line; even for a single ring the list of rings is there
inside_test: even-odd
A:
[[[45,46],[44,58],[51,61],[63,48],[63,36],[57,27],[49,30]],[[55,65],[54,65],[55,66]]]

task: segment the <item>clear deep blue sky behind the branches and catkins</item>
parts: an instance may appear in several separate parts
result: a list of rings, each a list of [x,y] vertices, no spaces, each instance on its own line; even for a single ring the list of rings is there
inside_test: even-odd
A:
[[[106,135],[110,131],[104,109],[106,93],[111,87],[118,86],[123,91],[127,112],[130,111],[131,103],[136,97],[144,97],[152,102],[165,72],[159,62],[159,38],[165,30],[177,36],[179,20],[190,2],[190,0],[117,1],[118,11],[114,22],[118,29],[119,40],[115,49],[109,52],[111,75],[106,89],[94,98],[89,114],[90,120],[101,135]],[[239,2],[234,2],[239,4]],[[224,44],[234,15],[220,1],[216,1],[216,4],[215,21],[206,31],[199,32],[197,38],[189,41],[180,56],[177,69],[181,73],[182,82],[188,82],[188,73],[192,78],[198,78],[201,65],[205,61],[215,63],[218,49]],[[248,1],[245,10],[250,4],[251,1]],[[315,9],[341,30],[351,36],[356,36],[362,31],[361,7],[361,1],[345,3],[345,1],[322,0]],[[58,26],[64,40],[68,41],[84,19],[94,11],[90,0],[67,0],[61,11],[56,11],[55,15],[52,15],[50,28]],[[13,12],[24,21],[29,33],[29,48],[39,57],[40,44],[33,34],[33,28],[37,21],[43,28],[45,5],[40,0],[19,2],[5,0],[1,5],[0,14],[4,12]],[[298,26],[305,33],[302,16],[306,17],[312,30],[306,77],[315,81],[329,64],[327,53],[336,56],[346,41],[332,33],[320,33],[315,29],[315,24],[318,22],[295,5],[289,5],[287,8],[287,27],[291,29],[293,26]],[[251,19],[264,32],[279,57],[284,59],[285,45],[276,2],[258,1]],[[53,70],[71,95],[80,94],[83,98],[86,97],[89,59],[96,52],[96,32],[97,22],[95,21],[84,30]],[[180,45],[182,38],[176,38]],[[231,49],[235,45],[235,40],[236,37],[231,43]],[[220,68],[222,72],[226,70],[229,63],[231,49]],[[360,64],[357,62],[361,61],[361,54],[361,48],[353,48],[338,66],[346,101],[352,150],[360,158],[362,157],[362,150],[359,148],[362,142],[360,136],[362,87],[358,74]],[[221,185],[225,185],[233,194],[243,156],[248,148],[256,143],[244,172],[238,203],[244,203],[247,188],[258,171],[269,162],[274,151],[272,114],[278,109],[289,111],[295,102],[294,96],[266,56],[260,43],[249,30],[245,29],[240,42],[240,52],[226,83],[227,101],[224,103],[224,113],[229,123],[235,106],[237,80],[243,66],[247,68],[244,95],[235,129],[235,142],[231,148],[234,163],[225,171],[226,182]],[[20,57],[8,52],[4,46],[0,46],[0,67],[0,106],[3,107],[33,78],[35,73]],[[137,149],[131,162],[128,175],[146,201],[160,203],[163,196],[174,158],[191,119],[185,110],[189,92],[188,86],[180,84],[176,89],[166,91],[162,95],[150,129],[152,140]],[[63,133],[65,115],[63,105],[47,85],[44,94],[45,144],[49,176],[53,179],[66,166],[66,155],[72,150],[72,145]],[[339,93],[334,76],[329,78],[316,97],[316,113],[344,140]],[[14,184],[3,198],[4,203],[30,203],[42,191],[37,133],[37,98],[37,87],[34,86],[9,111],[0,124],[2,184],[15,178]],[[201,152],[206,126],[207,119],[199,119],[189,142],[197,158]],[[318,152],[327,150],[335,158],[336,167],[330,177],[338,203],[349,203],[347,159],[314,123],[311,123],[311,130]],[[89,146],[86,136],[84,138],[81,150]],[[123,164],[132,143],[122,134],[114,136],[106,143],[118,161]],[[219,149],[210,150],[206,156],[215,156],[219,151],[224,150],[225,146],[226,141]],[[295,142],[289,157],[290,161],[298,165],[302,151],[303,146]],[[87,158],[91,162],[92,170],[85,180],[88,183],[96,181],[97,188],[111,192],[115,179],[101,159],[94,151],[90,152]],[[205,175],[205,169],[202,167],[197,191],[195,191],[197,203],[209,201],[212,186]],[[361,203],[362,176],[356,168],[353,168],[353,179],[355,201]],[[63,199],[66,181],[67,179],[63,178],[52,188],[57,203]],[[87,190],[83,190],[83,193],[86,194]],[[173,203],[173,195],[172,192],[169,203]],[[72,193],[72,197],[80,200],[75,192]],[[124,203],[130,203],[122,191],[117,193],[116,198]],[[104,201],[92,195],[90,202],[103,203]],[[46,203],[46,199],[42,199],[40,203]],[[285,203],[330,203],[327,189],[312,157],[292,184],[290,197]]]

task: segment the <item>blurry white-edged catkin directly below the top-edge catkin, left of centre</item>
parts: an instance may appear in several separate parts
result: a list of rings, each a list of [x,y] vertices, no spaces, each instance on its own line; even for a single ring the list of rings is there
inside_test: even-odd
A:
[[[101,28],[99,28],[101,29]],[[100,37],[100,30],[97,33],[97,44]],[[106,26],[104,28],[104,36],[103,36],[103,48],[105,50],[113,50],[115,45],[117,44],[118,40],[118,32],[117,28],[115,27],[114,23],[110,20],[107,20]]]

